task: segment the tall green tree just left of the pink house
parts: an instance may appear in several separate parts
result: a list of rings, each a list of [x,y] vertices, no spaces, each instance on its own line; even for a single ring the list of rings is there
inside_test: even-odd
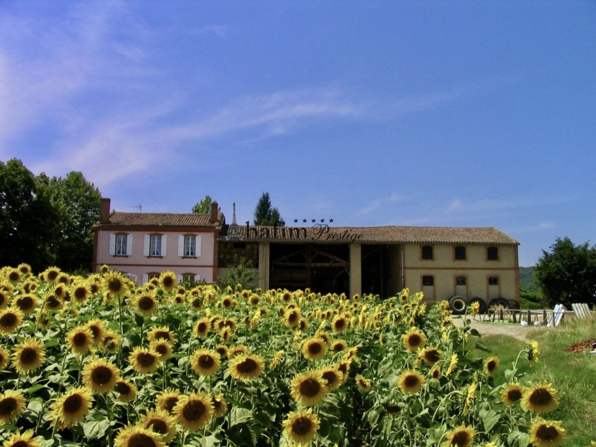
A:
[[[49,181],[52,207],[60,215],[54,254],[64,271],[90,271],[93,256],[92,226],[100,216],[101,193],[80,172]]]

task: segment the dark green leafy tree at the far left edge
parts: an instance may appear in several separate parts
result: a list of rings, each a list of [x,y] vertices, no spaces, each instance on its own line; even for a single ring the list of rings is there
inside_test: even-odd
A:
[[[26,262],[40,271],[53,263],[57,222],[49,179],[36,178],[21,160],[0,162],[0,266]]]

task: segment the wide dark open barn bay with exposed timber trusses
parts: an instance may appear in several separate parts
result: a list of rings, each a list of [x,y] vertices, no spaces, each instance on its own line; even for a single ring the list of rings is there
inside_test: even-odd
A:
[[[347,244],[271,244],[269,287],[347,295],[349,259]]]

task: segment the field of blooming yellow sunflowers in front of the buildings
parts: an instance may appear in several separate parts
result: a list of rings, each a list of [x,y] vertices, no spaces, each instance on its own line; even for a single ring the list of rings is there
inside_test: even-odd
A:
[[[475,312],[477,309],[471,309]],[[464,316],[467,318],[467,316]],[[483,361],[468,324],[422,294],[137,287],[0,270],[0,440],[49,446],[563,444],[559,396]],[[507,383],[493,374],[507,368]]]

